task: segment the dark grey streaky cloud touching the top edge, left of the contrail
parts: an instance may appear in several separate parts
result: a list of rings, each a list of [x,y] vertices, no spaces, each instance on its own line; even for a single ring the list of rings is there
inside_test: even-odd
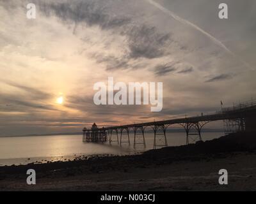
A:
[[[46,15],[56,15],[65,22],[86,23],[89,26],[99,25],[102,29],[113,29],[120,27],[131,21],[129,17],[117,17],[110,15],[102,1],[82,1],[75,0],[70,4],[69,1],[54,1],[40,3],[40,10]]]

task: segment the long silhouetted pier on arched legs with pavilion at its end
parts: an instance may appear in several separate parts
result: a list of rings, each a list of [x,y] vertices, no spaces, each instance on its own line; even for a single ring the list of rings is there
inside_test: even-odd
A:
[[[154,149],[167,147],[166,130],[173,125],[179,124],[184,128],[186,144],[202,141],[202,128],[212,121],[223,120],[225,133],[238,131],[255,131],[256,128],[256,101],[240,103],[229,108],[221,108],[221,111],[209,115],[196,117],[183,117],[180,119],[159,120],[154,122],[143,122],[98,128],[94,123],[92,128],[83,129],[83,142],[109,142],[122,145],[144,145],[146,147],[147,133],[150,128],[154,133]]]

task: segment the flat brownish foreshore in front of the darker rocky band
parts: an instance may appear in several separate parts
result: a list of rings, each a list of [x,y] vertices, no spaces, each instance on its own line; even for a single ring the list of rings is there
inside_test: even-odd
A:
[[[1,176],[1,191],[255,191],[256,152],[222,154],[200,161],[172,164],[130,164],[96,170],[72,168],[37,174],[36,185],[23,174]],[[218,183],[221,168],[228,170],[228,185]]]

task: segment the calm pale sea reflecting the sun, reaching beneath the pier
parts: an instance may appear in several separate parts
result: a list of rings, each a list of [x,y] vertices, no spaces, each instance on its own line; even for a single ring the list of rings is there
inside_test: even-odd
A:
[[[116,142],[109,145],[106,143],[83,143],[81,135],[56,135],[56,136],[24,136],[0,138],[0,166],[26,163],[45,163],[47,161],[67,161],[79,156],[93,155],[126,155],[136,154],[148,149],[153,149],[154,134],[145,133],[146,149],[143,145],[133,147],[134,138],[131,136],[131,146],[122,143],[122,147]],[[223,136],[223,133],[202,133],[202,139],[212,140]],[[142,142],[142,138],[137,142]],[[162,140],[161,140],[162,139]],[[186,144],[185,133],[167,133],[168,146]],[[127,142],[127,136],[123,136]],[[192,143],[193,140],[191,139]],[[163,138],[159,136],[157,144],[162,144]]]

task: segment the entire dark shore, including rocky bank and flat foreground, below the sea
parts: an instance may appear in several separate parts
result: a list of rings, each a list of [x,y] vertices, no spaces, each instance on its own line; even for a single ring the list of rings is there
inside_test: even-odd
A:
[[[255,133],[136,156],[80,157],[76,161],[0,167],[0,191],[255,191]],[[26,171],[36,170],[36,185]],[[228,170],[228,185],[218,171]]]

